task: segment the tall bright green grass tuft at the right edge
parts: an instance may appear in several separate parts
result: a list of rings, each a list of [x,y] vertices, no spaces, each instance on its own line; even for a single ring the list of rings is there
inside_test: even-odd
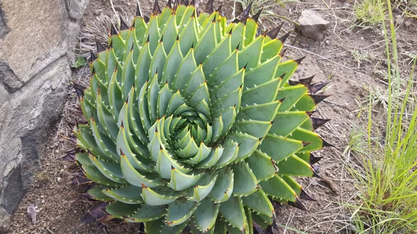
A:
[[[412,60],[407,84],[402,85],[404,75],[398,65],[391,3],[386,2],[386,10],[381,0],[377,3],[379,16],[383,18],[385,12],[389,16],[389,28],[382,21],[389,61],[388,100],[386,109],[383,108],[386,119],[385,124],[374,123],[373,95],[370,94],[368,142],[360,144],[356,150],[362,156],[363,170],[350,168],[357,178],[360,198],[359,206],[354,206],[352,219],[357,233],[411,234],[417,233],[417,99],[413,80],[416,59]],[[385,130],[379,133],[381,128]],[[363,135],[352,135],[352,145],[357,145],[355,139],[361,139]]]

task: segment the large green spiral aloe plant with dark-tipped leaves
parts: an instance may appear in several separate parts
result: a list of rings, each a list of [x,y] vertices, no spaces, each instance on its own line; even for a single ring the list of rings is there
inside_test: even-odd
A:
[[[86,219],[143,222],[149,234],[253,233],[275,203],[311,199],[293,176],[317,176],[311,151],[328,144],[311,117],[325,84],[290,79],[288,34],[260,34],[246,9],[230,24],[213,1],[155,3],[131,27],[113,26],[92,53],[90,86],[76,92],[81,171],[72,183],[103,201]],[[105,210],[105,212],[103,211]]]

